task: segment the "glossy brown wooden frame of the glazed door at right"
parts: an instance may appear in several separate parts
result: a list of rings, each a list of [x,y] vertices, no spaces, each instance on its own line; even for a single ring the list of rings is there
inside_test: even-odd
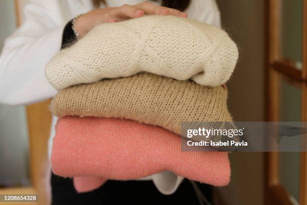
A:
[[[265,115],[266,121],[278,121],[279,76],[287,76],[300,84],[301,121],[307,121],[307,0],[303,0],[302,63],[299,71],[293,65],[279,59],[280,51],[280,0],[265,2]],[[306,145],[306,142],[302,142]],[[265,153],[264,159],[265,204],[292,204],[290,194],[280,184],[279,154]],[[300,153],[299,204],[307,205],[307,152]]]

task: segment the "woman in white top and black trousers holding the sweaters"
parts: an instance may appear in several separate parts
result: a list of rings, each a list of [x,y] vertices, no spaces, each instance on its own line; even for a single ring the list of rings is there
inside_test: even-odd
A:
[[[23,24],[6,40],[0,56],[0,102],[10,105],[32,104],[53,97],[57,91],[45,78],[44,69],[61,48],[71,45],[99,24],[143,15],[189,16],[220,27],[219,11],[214,0],[29,0],[24,8]],[[55,122],[54,118],[52,128]],[[53,137],[54,130],[51,135]],[[127,182],[109,180],[95,191],[77,194],[70,179],[52,175],[52,201],[53,204],[116,204],[138,201],[146,204],[175,203],[182,202],[183,199],[192,204],[193,201],[204,201],[204,193],[200,193],[198,184],[194,182],[184,180],[180,185],[180,180],[173,187],[174,190],[165,191],[164,187],[168,183],[174,183],[174,180],[170,180],[174,176],[166,172],[154,178],[158,178],[154,180],[157,188],[150,181],[153,178],[149,176],[147,180]],[[178,182],[178,177],[175,178]],[[210,195],[210,188],[201,188],[206,188],[206,194]],[[172,193],[176,189],[172,195],[160,193]],[[148,198],[147,201],[142,200],[144,196]]]

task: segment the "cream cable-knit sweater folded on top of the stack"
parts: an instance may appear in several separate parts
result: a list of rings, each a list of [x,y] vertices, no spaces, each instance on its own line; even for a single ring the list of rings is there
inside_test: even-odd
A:
[[[191,19],[146,16],[102,24],[47,65],[56,89],[146,71],[217,86],[231,76],[238,49],[226,32]]]

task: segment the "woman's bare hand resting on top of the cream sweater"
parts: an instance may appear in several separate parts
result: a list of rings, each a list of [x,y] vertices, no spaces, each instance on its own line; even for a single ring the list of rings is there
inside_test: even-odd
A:
[[[96,9],[80,16],[76,20],[76,30],[80,37],[85,36],[95,26],[102,23],[118,22],[147,15],[172,15],[186,18],[188,15],[176,9],[157,6],[150,2],[136,5],[122,5],[121,7]]]

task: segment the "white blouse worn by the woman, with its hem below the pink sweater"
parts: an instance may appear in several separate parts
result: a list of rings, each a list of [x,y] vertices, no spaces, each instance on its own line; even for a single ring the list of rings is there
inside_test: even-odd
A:
[[[140,2],[143,1],[106,0],[108,7]],[[26,1],[23,24],[6,39],[0,55],[0,103],[28,105],[56,95],[57,90],[45,77],[45,66],[59,52],[67,22],[93,9],[91,0]],[[192,0],[185,12],[188,18],[221,27],[215,0]],[[56,120],[53,117],[50,145]],[[171,194],[176,191],[183,177],[165,171],[142,180],[152,180],[160,192]]]

